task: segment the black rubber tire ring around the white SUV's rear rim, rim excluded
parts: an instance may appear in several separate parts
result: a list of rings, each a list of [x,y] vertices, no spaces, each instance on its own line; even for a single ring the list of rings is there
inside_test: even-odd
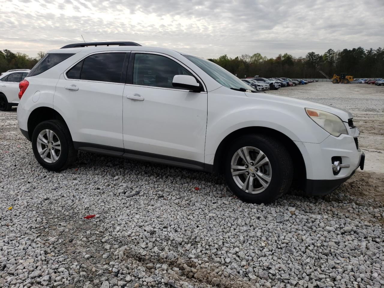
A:
[[[60,141],[61,154],[58,161],[56,161],[55,163],[45,162],[39,155],[39,152],[37,151],[37,143],[36,143],[37,137],[39,133],[45,129],[50,129],[51,131],[55,132],[56,136],[59,138],[59,141]],[[37,162],[39,162],[40,165],[43,166],[45,169],[50,171],[59,171],[63,167],[65,167],[65,164],[68,159],[68,151],[69,151],[68,139],[66,139],[65,134],[63,133],[63,131],[61,131],[60,127],[56,125],[55,122],[44,121],[38,124],[35,130],[33,131],[31,142],[32,142],[33,154],[35,154],[35,158]]]

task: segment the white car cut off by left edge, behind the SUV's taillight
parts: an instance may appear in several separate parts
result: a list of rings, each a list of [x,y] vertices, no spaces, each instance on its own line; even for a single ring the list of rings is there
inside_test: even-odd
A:
[[[29,73],[29,69],[8,70],[0,76],[0,110],[9,111],[19,103],[19,83]]]

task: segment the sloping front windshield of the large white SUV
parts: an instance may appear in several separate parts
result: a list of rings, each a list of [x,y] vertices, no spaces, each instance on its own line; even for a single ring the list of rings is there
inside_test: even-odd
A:
[[[255,89],[252,86],[249,86],[247,83],[244,83],[235,75],[229,73],[224,68],[218,66],[217,64],[209,60],[205,60],[203,58],[192,56],[192,55],[183,55],[183,56],[188,60],[190,60],[192,63],[194,63],[196,66],[198,66],[201,70],[203,70],[213,79],[215,79],[218,83],[222,84],[227,88],[235,88],[235,89],[244,88],[247,90],[255,91]]]

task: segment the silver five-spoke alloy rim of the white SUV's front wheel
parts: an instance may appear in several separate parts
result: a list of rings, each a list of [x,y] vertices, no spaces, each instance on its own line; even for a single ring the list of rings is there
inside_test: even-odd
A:
[[[271,183],[271,163],[260,149],[245,146],[233,154],[231,174],[235,183],[244,192],[258,194]]]

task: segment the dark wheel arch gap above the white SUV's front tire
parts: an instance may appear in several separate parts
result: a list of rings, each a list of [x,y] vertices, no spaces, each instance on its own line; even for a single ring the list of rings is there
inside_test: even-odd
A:
[[[305,165],[304,157],[301,154],[300,149],[297,147],[295,142],[293,142],[293,140],[290,137],[286,136],[284,133],[280,131],[277,131],[272,128],[260,127],[260,126],[240,128],[228,134],[220,142],[220,144],[216,149],[214,164],[212,167],[212,170],[215,174],[222,173],[223,154],[225,152],[225,148],[230,144],[230,142],[232,142],[234,139],[236,139],[239,136],[242,136],[244,134],[250,134],[250,133],[267,135],[282,142],[283,145],[288,149],[288,152],[292,157],[292,161],[294,165],[294,176],[293,176],[294,182],[304,183],[303,180],[306,179],[306,165]]]

